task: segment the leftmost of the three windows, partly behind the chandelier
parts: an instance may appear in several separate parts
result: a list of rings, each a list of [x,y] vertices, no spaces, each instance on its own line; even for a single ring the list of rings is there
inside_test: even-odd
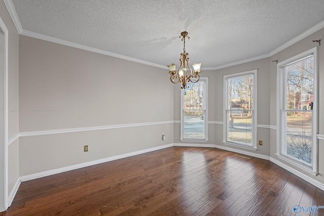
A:
[[[208,78],[181,91],[181,141],[208,141]]]

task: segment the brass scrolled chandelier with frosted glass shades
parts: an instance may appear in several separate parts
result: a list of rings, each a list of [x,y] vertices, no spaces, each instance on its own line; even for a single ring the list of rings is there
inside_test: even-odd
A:
[[[178,83],[180,82],[182,84],[181,89],[188,89],[189,87],[187,87],[187,82],[197,82],[199,81],[199,73],[200,73],[200,65],[199,64],[193,64],[193,71],[189,66],[189,53],[186,53],[186,49],[185,49],[185,42],[186,42],[186,37],[188,37],[188,32],[183,31],[181,32],[181,35],[179,36],[179,38],[181,38],[181,41],[183,41],[183,53],[180,54],[180,67],[179,69],[176,71],[176,65],[172,64],[172,65],[168,65],[170,71],[170,79],[173,83]],[[189,39],[190,37],[188,37]],[[186,74],[186,72],[188,71],[186,68],[186,64],[188,69],[190,70],[190,74]]]

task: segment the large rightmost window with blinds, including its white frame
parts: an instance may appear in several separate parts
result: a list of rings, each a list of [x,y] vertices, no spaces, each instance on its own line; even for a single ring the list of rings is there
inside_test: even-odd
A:
[[[316,49],[278,65],[278,155],[317,169]]]

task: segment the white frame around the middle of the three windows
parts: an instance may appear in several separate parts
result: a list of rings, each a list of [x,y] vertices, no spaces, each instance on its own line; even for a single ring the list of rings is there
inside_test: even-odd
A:
[[[253,112],[252,112],[252,145],[243,144],[239,142],[231,142],[227,140],[228,137],[228,119],[227,119],[227,111],[228,111],[228,79],[235,78],[240,76],[246,76],[253,74]],[[257,150],[257,70],[250,70],[235,74],[229,74],[223,76],[223,86],[224,86],[224,115],[223,115],[223,122],[224,122],[224,131],[223,131],[223,143],[225,145],[230,145],[238,148],[249,149],[249,150]]]

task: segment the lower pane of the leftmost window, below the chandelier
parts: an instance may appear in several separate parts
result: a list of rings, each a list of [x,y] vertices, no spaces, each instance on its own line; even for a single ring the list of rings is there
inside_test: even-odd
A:
[[[204,111],[184,111],[183,138],[204,139]]]

